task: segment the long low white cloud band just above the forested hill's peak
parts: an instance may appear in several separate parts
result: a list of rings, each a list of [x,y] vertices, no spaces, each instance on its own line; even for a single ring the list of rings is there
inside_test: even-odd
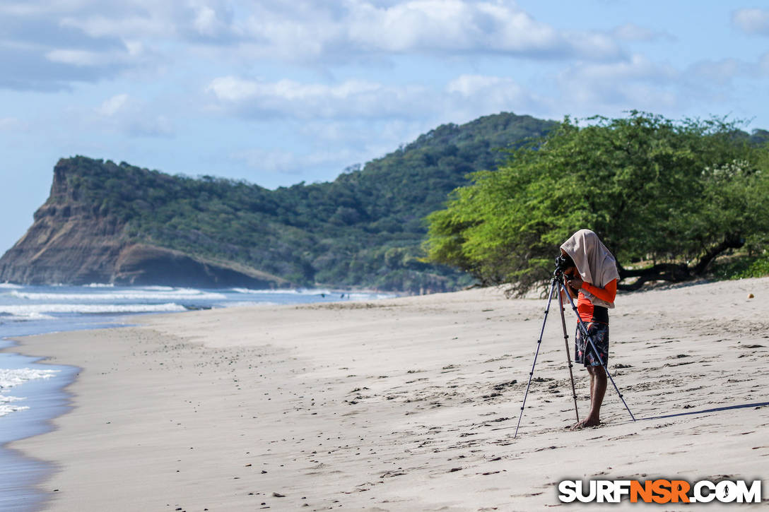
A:
[[[268,118],[348,121],[462,121],[498,111],[548,115],[555,102],[512,78],[459,75],[442,88],[386,85],[373,81],[338,84],[215,78],[206,91],[209,109],[263,121]]]

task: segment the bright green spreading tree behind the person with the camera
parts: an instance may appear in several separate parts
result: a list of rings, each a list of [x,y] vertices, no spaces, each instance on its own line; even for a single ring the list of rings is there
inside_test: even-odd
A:
[[[558,246],[595,231],[618,259],[620,288],[704,274],[734,248],[769,238],[766,138],[724,119],[632,111],[571,118],[471,175],[429,215],[431,261],[523,293],[547,280]]]

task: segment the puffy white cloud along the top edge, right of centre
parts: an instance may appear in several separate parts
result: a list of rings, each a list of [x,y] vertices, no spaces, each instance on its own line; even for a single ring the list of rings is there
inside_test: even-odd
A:
[[[376,5],[349,0],[337,10],[263,7],[248,18],[248,48],[299,61],[352,55],[468,53],[521,58],[618,58],[621,48],[598,32],[558,31],[514,5],[471,0],[409,0]],[[293,43],[293,44],[291,44]]]

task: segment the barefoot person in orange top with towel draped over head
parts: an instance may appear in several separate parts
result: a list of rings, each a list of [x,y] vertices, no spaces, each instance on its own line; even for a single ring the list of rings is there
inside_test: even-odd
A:
[[[594,427],[601,424],[601,404],[606,393],[606,371],[601,361],[608,365],[609,308],[614,308],[620,276],[614,256],[589,229],[572,234],[561,245],[561,254],[571,260],[564,271],[566,284],[572,297],[577,298],[579,317],[587,324],[588,335],[598,350],[596,354],[578,325],[574,337],[574,362],[584,364],[590,373],[590,411],[584,420],[571,428]]]

